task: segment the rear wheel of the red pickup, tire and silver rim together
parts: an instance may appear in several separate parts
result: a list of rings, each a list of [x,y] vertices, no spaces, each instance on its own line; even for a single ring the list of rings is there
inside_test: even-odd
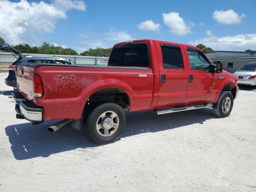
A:
[[[84,118],[83,128],[93,142],[108,144],[121,136],[125,120],[125,113],[118,104],[104,103],[91,108]]]

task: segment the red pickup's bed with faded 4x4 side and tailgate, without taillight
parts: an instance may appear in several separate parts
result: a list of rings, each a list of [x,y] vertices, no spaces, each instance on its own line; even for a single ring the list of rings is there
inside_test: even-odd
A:
[[[42,78],[42,98],[33,97],[34,74]],[[146,110],[152,102],[153,80],[152,69],[144,67],[21,63],[17,70],[20,93],[44,108],[44,120],[81,118],[90,95],[104,88],[124,90],[130,111]]]

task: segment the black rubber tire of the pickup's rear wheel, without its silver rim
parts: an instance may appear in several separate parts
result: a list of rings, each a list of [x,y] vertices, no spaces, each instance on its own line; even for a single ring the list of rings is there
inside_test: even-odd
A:
[[[117,115],[117,117],[115,117],[114,119],[118,120],[118,128],[116,128],[113,134],[111,134],[110,130],[114,128],[110,128],[108,131],[110,135],[103,136],[104,131],[106,131],[106,129],[104,129],[102,125],[104,119],[102,119],[102,123],[99,124],[99,121],[100,121],[99,118],[101,118],[102,114],[104,113],[107,114],[108,111],[112,111]],[[106,118],[108,118],[108,116],[106,116],[105,119]],[[114,122],[114,119],[112,119],[113,122]],[[125,113],[118,104],[104,103],[98,106],[90,107],[90,109],[86,111],[86,115],[84,117],[83,129],[85,131],[86,136],[90,140],[92,140],[94,143],[100,144],[100,145],[108,144],[108,143],[115,142],[121,136],[125,127],[125,121],[126,121]],[[97,130],[97,125],[102,126],[101,129],[103,129],[103,132],[100,132]]]

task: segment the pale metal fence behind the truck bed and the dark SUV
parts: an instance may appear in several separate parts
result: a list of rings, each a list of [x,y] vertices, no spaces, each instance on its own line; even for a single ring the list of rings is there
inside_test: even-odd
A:
[[[52,54],[24,54],[30,56],[50,56],[50,57],[61,57],[66,60],[71,59],[77,65],[107,65],[108,64],[108,57],[92,57],[92,56],[79,56],[79,55],[52,55]],[[15,58],[9,52],[0,52],[0,66],[9,66],[14,61]],[[0,72],[6,72],[8,69],[1,69]]]

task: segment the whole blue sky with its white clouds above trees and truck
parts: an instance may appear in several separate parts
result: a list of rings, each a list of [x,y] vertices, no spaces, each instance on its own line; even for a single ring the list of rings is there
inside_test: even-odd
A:
[[[0,24],[8,24],[0,36],[10,44],[46,41],[79,53],[145,38],[256,50],[255,10],[255,0],[2,0]]]

